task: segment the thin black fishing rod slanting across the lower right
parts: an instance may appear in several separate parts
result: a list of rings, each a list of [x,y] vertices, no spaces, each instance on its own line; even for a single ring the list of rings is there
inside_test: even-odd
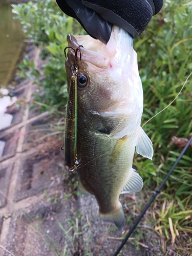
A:
[[[158,189],[154,192],[152,198],[150,199],[150,201],[148,201],[148,203],[146,204],[145,208],[143,209],[143,211],[141,212],[140,216],[138,217],[138,219],[136,220],[136,222],[134,223],[133,227],[130,229],[130,231],[127,233],[125,239],[122,241],[121,245],[119,246],[119,248],[117,249],[117,251],[115,252],[115,254],[113,256],[117,256],[119,254],[119,252],[121,251],[121,249],[123,248],[123,246],[125,245],[126,241],[130,238],[131,234],[133,233],[134,229],[137,227],[137,225],[139,224],[140,220],[142,219],[142,217],[144,216],[146,210],[150,207],[150,205],[152,204],[152,202],[155,200],[155,198],[157,197],[157,195],[160,193],[161,188],[163,187],[163,185],[165,184],[165,182],[167,181],[167,179],[169,178],[169,176],[172,174],[173,170],[175,169],[176,165],[179,163],[180,159],[182,158],[182,156],[184,155],[185,151],[187,150],[187,148],[189,147],[190,143],[192,142],[192,136],[190,137],[190,139],[188,140],[186,146],[183,148],[181,154],[179,155],[178,159],[176,160],[176,162],[174,163],[174,165],[172,166],[172,168],[169,170],[168,174],[166,175],[166,177],[164,178],[164,180],[162,181],[162,183],[160,184],[160,186],[158,187]]]

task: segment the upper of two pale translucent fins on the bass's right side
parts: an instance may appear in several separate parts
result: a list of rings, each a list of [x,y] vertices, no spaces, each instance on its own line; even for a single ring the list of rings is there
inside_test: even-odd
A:
[[[153,157],[153,144],[146,135],[146,133],[143,131],[142,128],[140,128],[138,134],[137,134],[137,145],[136,145],[136,151],[139,155],[143,157],[147,157],[152,160]]]

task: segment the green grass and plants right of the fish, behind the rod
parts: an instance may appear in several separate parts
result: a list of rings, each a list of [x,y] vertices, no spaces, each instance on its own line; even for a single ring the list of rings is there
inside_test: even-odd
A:
[[[192,71],[191,2],[164,2],[163,11],[158,18],[153,18],[146,31],[135,42],[144,91],[142,123],[177,96]],[[155,151],[153,163],[149,160],[143,162],[142,158],[136,158],[134,162],[141,176],[146,177],[145,186],[153,187],[156,184],[157,187],[179,156],[178,148],[170,145],[171,138],[188,138],[192,132],[191,79],[192,77],[176,101],[143,127],[152,138]],[[191,159],[192,151],[188,149],[166,182],[162,196],[157,200],[159,205],[154,214],[156,229],[162,229],[161,234],[166,239],[173,239],[174,234],[179,234],[179,240],[184,232],[191,232]],[[174,227],[171,234],[170,221]],[[190,254],[189,251],[186,255],[187,253]]]

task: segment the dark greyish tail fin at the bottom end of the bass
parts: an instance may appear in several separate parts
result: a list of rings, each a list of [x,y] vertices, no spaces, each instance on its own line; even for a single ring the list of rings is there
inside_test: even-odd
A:
[[[120,202],[117,210],[108,212],[107,214],[102,214],[102,212],[99,211],[99,215],[103,221],[113,222],[119,230],[124,229],[125,217],[123,207]]]

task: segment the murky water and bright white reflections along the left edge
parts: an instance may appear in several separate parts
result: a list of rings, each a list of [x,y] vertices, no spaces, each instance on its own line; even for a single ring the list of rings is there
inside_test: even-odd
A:
[[[16,101],[9,97],[9,81],[13,78],[16,63],[24,49],[24,33],[22,25],[13,19],[10,4],[0,0],[0,130],[11,124],[13,116],[5,114],[7,106]],[[3,155],[5,141],[0,141],[0,157]]]

